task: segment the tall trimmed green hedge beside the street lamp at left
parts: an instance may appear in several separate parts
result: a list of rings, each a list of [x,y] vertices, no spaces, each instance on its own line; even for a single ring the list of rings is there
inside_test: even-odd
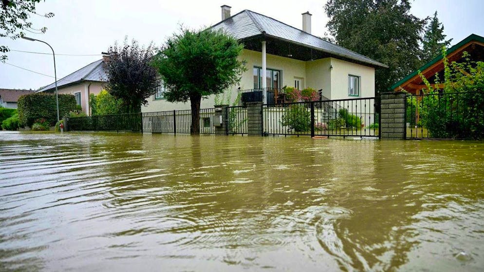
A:
[[[60,118],[75,109],[74,95],[59,94]],[[50,126],[54,126],[57,122],[56,95],[43,92],[22,95],[19,97],[18,110],[20,127],[32,127],[39,118],[45,118]]]

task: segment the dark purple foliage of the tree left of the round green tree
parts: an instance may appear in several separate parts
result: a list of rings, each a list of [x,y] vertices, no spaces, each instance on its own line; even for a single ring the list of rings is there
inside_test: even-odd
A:
[[[159,86],[158,74],[151,66],[153,44],[140,47],[134,39],[128,44],[125,38],[123,46],[117,42],[109,48],[109,61],[106,63],[106,90],[114,97],[123,100],[130,112],[140,112],[141,105],[153,95]]]

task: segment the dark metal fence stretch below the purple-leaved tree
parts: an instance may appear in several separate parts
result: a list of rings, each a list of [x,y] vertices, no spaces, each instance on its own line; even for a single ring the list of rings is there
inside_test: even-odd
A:
[[[68,117],[69,131],[142,132],[141,113]]]

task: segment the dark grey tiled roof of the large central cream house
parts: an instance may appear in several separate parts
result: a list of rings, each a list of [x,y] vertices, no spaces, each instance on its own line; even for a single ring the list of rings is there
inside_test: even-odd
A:
[[[223,29],[237,39],[244,39],[258,35],[274,36],[290,42],[301,44],[303,46],[314,48],[328,54],[333,54],[335,57],[340,56],[353,59],[358,62],[367,63],[372,66],[388,68],[387,65],[372,60],[369,57],[355,53],[344,47],[335,45],[317,36],[282,23],[276,19],[250,10],[243,10],[242,12],[212,26],[212,28],[216,30]]]

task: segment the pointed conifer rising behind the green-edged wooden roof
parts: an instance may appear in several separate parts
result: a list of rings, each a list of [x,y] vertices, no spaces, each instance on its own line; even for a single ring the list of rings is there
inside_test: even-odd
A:
[[[442,48],[447,47],[450,44],[452,39],[446,40],[446,37],[447,35],[444,34],[444,25],[439,22],[436,11],[425,29],[422,41],[424,48],[422,60],[424,60],[424,62],[428,62],[440,55]]]

